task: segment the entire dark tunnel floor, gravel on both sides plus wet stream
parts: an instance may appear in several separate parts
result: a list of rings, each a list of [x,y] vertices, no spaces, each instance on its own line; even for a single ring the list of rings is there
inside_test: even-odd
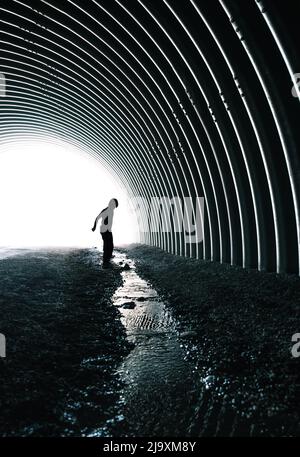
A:
[[[97,250],[2,257],[1,436],[300,434],[298,278],[148,247],[105,270]]]

